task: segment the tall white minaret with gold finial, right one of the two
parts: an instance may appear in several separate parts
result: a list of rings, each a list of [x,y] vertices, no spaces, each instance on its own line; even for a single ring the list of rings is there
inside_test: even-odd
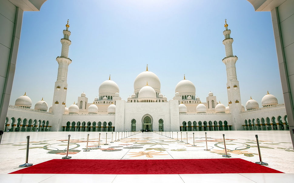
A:
[[[228,100],[230,113],[232,114],[232,125],[234,130],[242,130],[242,121],[241,121],[241,96],[239,89],[239,81],[237,80],[236,74],[236,62],[238,60],[237,56],[233,55],[232,43],[233,38],[230,37],[231,30],[228,29],[227,20],[225,19],[225,28],[223,31],[225,39],[222,43],[225,45],[226,49],[226,57],[222,59],[222,62],[226,64],[227,71],[227,92],[228,92]]]

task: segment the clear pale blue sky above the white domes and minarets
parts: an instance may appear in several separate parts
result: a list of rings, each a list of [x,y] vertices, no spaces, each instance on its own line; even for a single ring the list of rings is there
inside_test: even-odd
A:
[[[267,91],[284,103],[270,12],[255,12],[246,0],[48,0],[41,11],[24,12],[10,104],[27,92],[32,108],[42,97],[52,105],[67,19],[67,107],[82,92],[92,102],[109,74],[126,100],[146,64],[168,100],[185,74],[202,102],[212,91],[227,105],[224,19],[239,58],[242,104],[252,96],[262,107]]]

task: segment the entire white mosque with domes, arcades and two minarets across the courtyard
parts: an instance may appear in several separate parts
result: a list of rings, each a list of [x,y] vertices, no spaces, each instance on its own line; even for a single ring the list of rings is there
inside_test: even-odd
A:
[[[43,100],[32,109],[26,95],[10,105],[5,131],[216,131],[216,130],[289,130],[286,109],[274,95],[265,92],[262,106],[250,98],[241,104],[236,74],[237,56],[233,55],[231,30],[225,24],[226,57],[222,62],[227,71],[228,106],[217,102],[212,92],[205,101],[195,94],[195,85],[185,79],[175,86],[175,96],[168,100],[160,91],[158,76],[148,70],[139,73],[134,81],[134,93],[127,101],[119,96],[119,86],[109,79],[99,87],[99,97],[89,101],[85,93],[77,103],[65,105],[67,94],[68,58],[71,32],[63,30],[61,56],[55,82],[52,106]],[[260,108],[261,107],[261,108]]]

